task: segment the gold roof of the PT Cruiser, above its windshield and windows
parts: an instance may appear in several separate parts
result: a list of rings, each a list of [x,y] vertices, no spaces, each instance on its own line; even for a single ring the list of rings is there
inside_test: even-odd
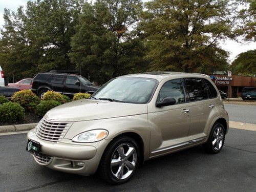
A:
[[[174,78],[185,78],[185,77],[198,77],[198,78],[210,78],[208,75],[200,74],[200,73],[184,73],[184,72],[170,72],[170,71],[154,71],[154,72],[146,72],[146,73],[137,73],[137,74],[129,74],[123,75],[123,77],[144,77],[144,78],[152,78],[161,81],[165,78],[174,77]]]

